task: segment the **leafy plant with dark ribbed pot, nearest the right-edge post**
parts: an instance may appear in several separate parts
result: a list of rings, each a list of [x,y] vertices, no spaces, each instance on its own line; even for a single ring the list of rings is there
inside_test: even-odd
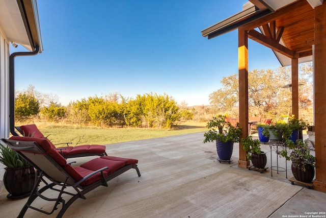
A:
[[[292,161],[292,174],[297,181],[310,183],[315,176],[316,158],[310,154],[307,140],[293,143],[287,139],[287,146],[290,150],[283,149],[278,154]]]

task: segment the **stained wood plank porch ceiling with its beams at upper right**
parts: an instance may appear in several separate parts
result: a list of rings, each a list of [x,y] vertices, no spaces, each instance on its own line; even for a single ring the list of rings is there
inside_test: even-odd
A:
[[[254,30],[259,28],[262,34]],[[277,10],[240,27],[249,38],[289,58],[312,55],[314,10],[306,0]]]

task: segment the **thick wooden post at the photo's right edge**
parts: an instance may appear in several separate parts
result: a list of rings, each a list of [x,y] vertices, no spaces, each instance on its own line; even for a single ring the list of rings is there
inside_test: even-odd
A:
[[[326,2],[315,8],[315,151],[314,189],[326,192]]]

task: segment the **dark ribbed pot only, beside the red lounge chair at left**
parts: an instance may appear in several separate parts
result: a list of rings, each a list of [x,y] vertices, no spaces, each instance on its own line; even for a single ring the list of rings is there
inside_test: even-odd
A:
[[[4,185],[9,192],[7,198],[18,199],[30,196],[36,177],[33,166],[6,168]]]

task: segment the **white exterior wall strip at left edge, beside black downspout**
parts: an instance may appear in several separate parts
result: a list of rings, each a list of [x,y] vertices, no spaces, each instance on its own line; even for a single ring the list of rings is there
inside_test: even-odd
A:
[[[0,138],[9,137],[9,42],[0,27]]]

